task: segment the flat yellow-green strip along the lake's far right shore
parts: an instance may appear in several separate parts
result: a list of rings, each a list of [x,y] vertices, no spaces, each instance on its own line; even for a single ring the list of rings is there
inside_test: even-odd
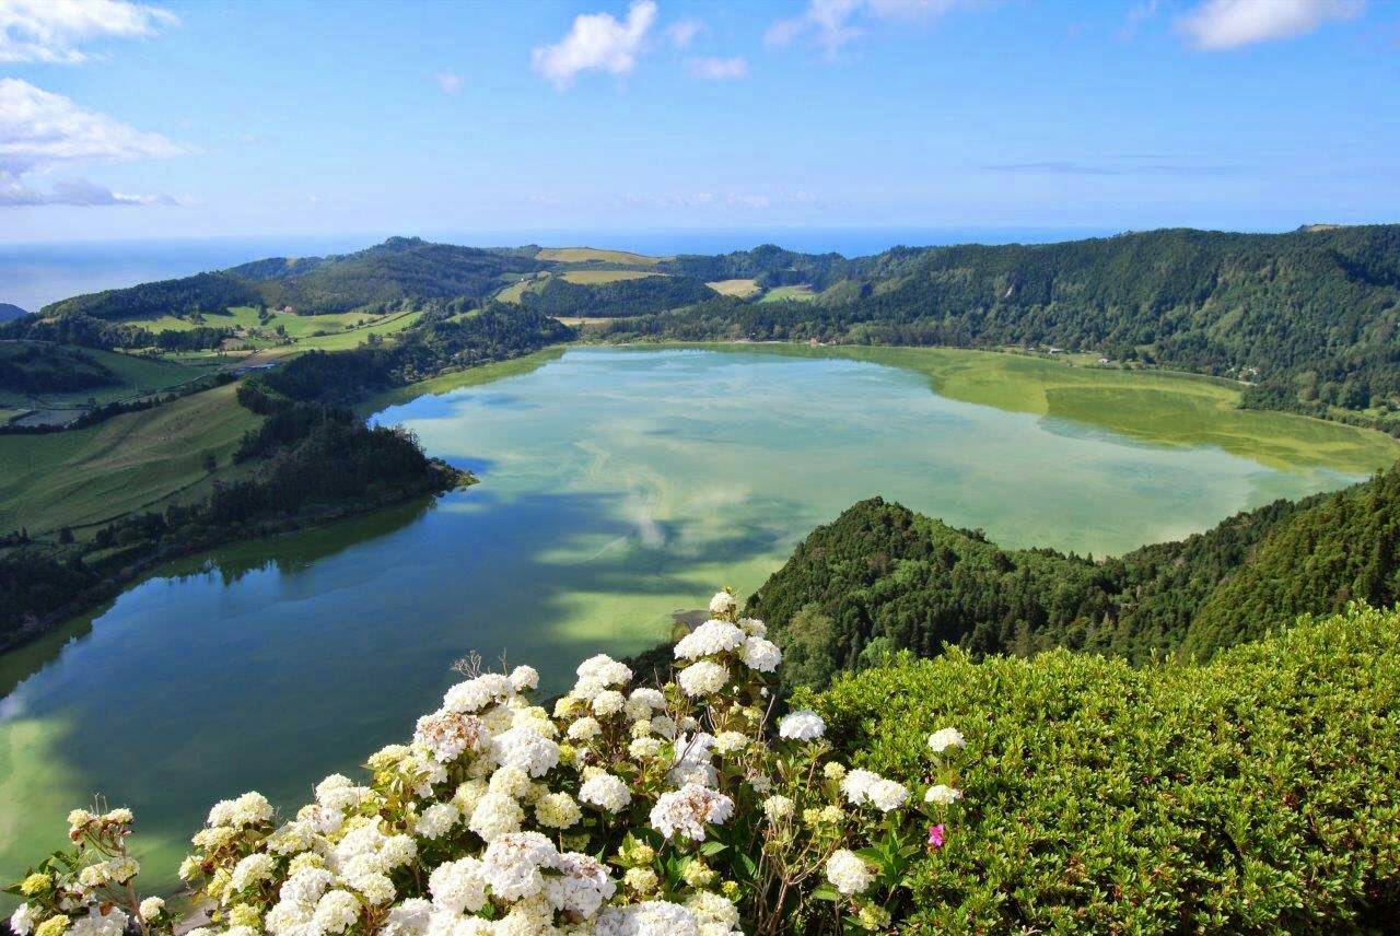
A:
[[[752,344],[722,347],[755,350]],[[1070,420],[1149,445],[1214,445],[1278,470],[1327,467],[1365,476],[1400,458],[1400,442],[1383,432],[1291,413],[1240,410],[1240,386],[1215,378],[1070,367],[962,348],[759,347],[766,354],[841,357],[904,368],[927,375],[935,392],[953,400]]]

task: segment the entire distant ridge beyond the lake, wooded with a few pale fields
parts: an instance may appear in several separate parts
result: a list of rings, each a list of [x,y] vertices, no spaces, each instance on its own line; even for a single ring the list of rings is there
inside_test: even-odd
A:
[[[609,270],[630,273],[609,278]],[[706,285],[743,281],[752,288],[732,295]],[[1246,406],[1400,428],[1400,225],[1175,228],[1040,245],[897,246],[854,259],[776,245],[643,257],[391,238],[356,253],[272,257],[74,297],[41,312],[119,322],[228,305],[314,315],[493,298],[608,319],[588,326],[603,340],[1085,350],[1246,381]]]

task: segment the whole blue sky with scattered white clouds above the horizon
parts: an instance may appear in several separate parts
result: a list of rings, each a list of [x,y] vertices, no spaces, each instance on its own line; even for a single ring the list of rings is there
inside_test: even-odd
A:
[[[0,0],[6,242],[1400,221],[1389,0],[55,10]]]

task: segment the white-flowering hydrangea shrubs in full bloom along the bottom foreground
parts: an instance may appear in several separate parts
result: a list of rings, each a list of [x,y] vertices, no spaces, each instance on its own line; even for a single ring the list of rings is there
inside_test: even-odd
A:
[[[826,726],[770,726],[781,660],[728,592],[685,637],[679,672],[631,688],[608,656],[553,708],[539,674],[480,672],[281,820],[259,793],[217,803],[181,866],[209,925],[193,935],[603,933],[722,936],[888,929],[906,872],[942,846],[962,735],[944,728],[904,782],[830,758]],[[18,883],[20,936],[168,933],[140,900],[129,810],[70,817],[77,851]]]

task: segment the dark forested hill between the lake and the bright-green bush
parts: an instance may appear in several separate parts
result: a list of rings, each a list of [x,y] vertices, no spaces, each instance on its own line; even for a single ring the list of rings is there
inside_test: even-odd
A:
[[[1093,561],[1004,550],[879,498],[798,546],[750,600],[790,677],[825,684],[892,649],[1210,656],[1303,613],[1400,600],[1400,469],[1238,513],[1179,543]]]

